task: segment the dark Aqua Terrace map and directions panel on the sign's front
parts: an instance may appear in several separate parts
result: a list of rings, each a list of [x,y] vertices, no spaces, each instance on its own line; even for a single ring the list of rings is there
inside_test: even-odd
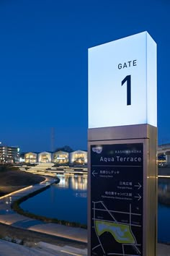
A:
[[[143,144],[91,145],[91,255],[143,255]]]

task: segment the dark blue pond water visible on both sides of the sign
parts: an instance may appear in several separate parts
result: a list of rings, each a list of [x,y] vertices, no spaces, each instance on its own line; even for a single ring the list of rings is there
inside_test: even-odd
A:
[[[25,211],[49,218],[87,223],[87,176],[59,176],[61,182],[22,202]],[[158,242],[170,242],[170,179],[158,179]]]

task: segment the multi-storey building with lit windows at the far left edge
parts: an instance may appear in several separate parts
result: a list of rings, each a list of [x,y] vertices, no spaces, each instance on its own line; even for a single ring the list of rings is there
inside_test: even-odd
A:
[[[0,145],[0,162],[1,163],[19,162],[19,148]]]

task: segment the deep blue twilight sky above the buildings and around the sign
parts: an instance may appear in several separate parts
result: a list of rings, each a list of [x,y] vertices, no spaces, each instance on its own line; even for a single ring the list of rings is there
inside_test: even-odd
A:
[[[145,30],[158,45],[158,142],[170,142],[169,0],[1,0],[0,141],[87,145],[87,49]]]

